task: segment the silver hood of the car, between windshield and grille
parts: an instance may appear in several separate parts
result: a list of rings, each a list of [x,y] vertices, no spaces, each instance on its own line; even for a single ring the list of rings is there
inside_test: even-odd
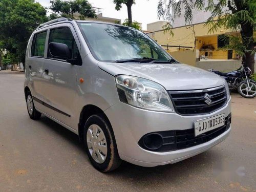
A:
[[[132,75],[150,79],[161,84],[166,90],[196,90],[222,86],[223,79],[211,72],[177,63],[106,63],[98,66],[113,76]]]

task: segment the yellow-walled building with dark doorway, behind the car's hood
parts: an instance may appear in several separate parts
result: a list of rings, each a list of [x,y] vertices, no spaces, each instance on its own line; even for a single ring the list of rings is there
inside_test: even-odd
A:
[[[214,34],[209,34],[208,28],[204,25],[205,23],[199,23],[173,28],[174,36],[168,32],[164,33],[164,30],[147,34],[171,54],[181,51],[193,51],[193,55],[195,55],[194,61],[196,61],[196,58],[237,59],[233,50],[221,50],[221,47],[225,45],[222,38],[223,34],[236,34],[236,32],[220,29]],[[190,61],[189,64],[193,65],[194,61]]]

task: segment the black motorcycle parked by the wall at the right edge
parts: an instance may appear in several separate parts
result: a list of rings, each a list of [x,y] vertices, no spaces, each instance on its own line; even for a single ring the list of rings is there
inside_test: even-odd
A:
[[[242,66],[235,71],[228,73],[222,73],[209,69],[210,72],[222,76],[228,83],[229,90],[238,90],[239,94],[245,98],[253,98],[256,96],[256,82],[249,79],[251,76],[251,70],[245,67],[242,61]]]

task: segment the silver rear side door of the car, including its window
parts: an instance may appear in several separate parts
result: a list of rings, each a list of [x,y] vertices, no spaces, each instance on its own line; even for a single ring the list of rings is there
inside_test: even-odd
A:
[[[28,50],[26,58],[26,77],[28,77],[29,88],[33,97],[42,99],[44,96],[41,85],[44,80],[43,63],[46,54],[46,38],[47,30],[36,32],[33,36],[31,50]],[[34,102],[37,109],[41,109],[41,105]]]

